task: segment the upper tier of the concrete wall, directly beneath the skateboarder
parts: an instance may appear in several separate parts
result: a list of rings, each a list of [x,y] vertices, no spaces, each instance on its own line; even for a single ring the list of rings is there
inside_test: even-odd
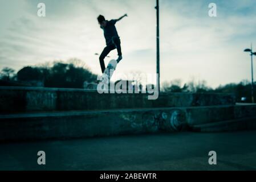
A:
[[[0,113],[234,105],[231,94],[99,94],[96,90],[0,87]]]

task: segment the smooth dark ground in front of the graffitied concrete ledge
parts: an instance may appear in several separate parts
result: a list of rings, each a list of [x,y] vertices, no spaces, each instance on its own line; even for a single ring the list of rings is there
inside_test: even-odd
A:
[[[37,152],[46,152],[46,165]],[[217,152],[217,165],[208,152]],[[0,144],[0,169],[255,170],[256,131],[175,133]]]

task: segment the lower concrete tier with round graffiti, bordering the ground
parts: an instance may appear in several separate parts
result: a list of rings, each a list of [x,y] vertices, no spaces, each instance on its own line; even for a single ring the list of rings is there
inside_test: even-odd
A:
[[[256,106],[198,106],[0,115],[0,141],[186,131],[256,117]],[[239,113],[239,114],[238,114]],[[214,118],[214,119],[213,119]]]

